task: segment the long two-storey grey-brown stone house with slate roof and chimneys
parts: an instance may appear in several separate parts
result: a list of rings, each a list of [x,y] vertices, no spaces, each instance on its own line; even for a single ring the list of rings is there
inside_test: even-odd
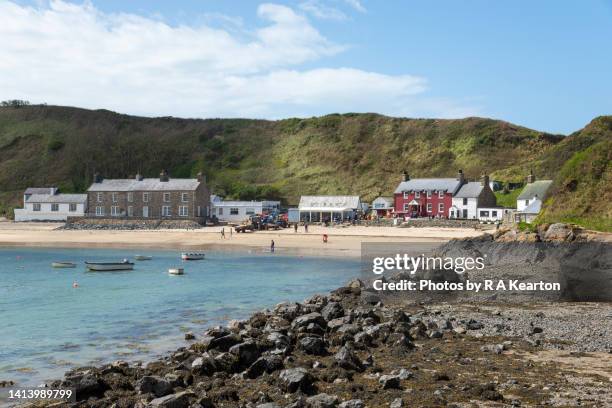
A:
[[[104,179],[99,174],[87,190],[87,216],[124,219],[192,219],[210,216],[210,192],[202,174],[194,179]]]

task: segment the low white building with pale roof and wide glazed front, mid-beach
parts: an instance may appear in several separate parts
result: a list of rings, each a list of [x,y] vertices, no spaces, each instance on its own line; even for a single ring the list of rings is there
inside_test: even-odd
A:
[[[359,196],[302,196],[298,205],[300,220],[308,222],[353,220],[361,208]]]

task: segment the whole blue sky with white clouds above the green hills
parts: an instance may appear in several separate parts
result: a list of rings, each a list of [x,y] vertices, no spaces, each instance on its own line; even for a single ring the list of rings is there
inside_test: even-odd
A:
[[[612,0],[0,0],[0,100],[142,116],[612,114]]]

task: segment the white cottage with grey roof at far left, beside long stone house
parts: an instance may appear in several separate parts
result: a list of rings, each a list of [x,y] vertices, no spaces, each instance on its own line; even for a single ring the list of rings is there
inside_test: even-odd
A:
[[[28,188],[23,194],[23,208],[15,209],[15,221],[66,221],[83,217],[87,194],[60,194],[56,187]]]

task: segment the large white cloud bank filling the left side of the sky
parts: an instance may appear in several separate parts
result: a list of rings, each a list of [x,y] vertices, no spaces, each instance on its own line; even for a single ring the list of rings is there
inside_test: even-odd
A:
[[[322,66],[344,47],[291,8],[262,4],[260,28],[172,26],[91,3],[0,0],[0,99],[189,117],[370,111],[448,117],[477,109],[434,100],[427,81]]]

